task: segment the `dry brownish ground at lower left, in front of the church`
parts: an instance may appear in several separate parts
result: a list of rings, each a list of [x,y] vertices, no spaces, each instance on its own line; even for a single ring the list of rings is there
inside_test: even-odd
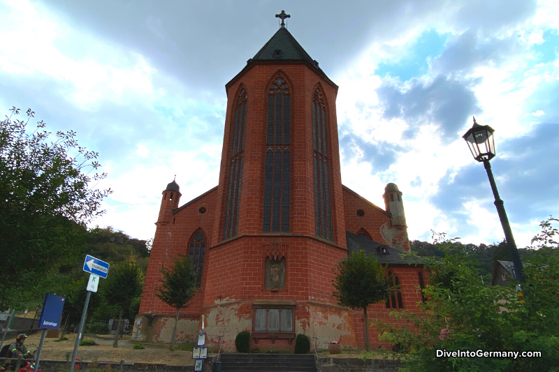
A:
[[[41,359],[66,360],[71,359],[75,343],[75,334],[68,334],[67,341],[55,342],[57,338],[45,338]],[[170,351],[168,345],[150,345],[143,343],[145,349],[134,350],[132,348],[131,336],[119,338],[118,348],[112,347],[115,336],[103,335],[96,337],[85,337],[92,339],[99,345],[80,346],[78,358],[83,362],[124,362],[129,363],[158,363],[170,366],[194,366],[192,352],[175,350]],[[36,350],[41,341],[41,333],[32,334],[25,342],[29,350]],[[10,341],[13,342],[13,341]],[[69,355],[68,355],[69,353]]]

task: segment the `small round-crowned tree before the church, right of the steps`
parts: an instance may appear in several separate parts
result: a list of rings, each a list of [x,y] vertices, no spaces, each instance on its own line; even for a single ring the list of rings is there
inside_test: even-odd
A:
[[[336,273],[336,270],[334,269]],[[362,308],[365,315],[365,348],[370,350],[367,307],[384,301],[388,295],[386,270],[375,256],[365,251],[351,252],[337,264],[337,276],[333,280],[333,296],[342,306]]]

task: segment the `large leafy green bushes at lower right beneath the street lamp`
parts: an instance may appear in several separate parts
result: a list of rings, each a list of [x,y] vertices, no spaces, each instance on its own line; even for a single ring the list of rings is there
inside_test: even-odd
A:
[[[474,255],[447,241],[444,258],[426,258],[432,273],[421,313],[393,312],[407,327],[376,322],[381,339],[409,350],[405,371],[559,371],[559,250],[550,218],[524,258],[523,296],[492,287],[479,275]],[[542,357],[437,357],[435,350],[542,352]]]

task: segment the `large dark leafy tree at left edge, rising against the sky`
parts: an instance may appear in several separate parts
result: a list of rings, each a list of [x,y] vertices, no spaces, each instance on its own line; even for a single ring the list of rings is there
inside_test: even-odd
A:
[[[64,263],[78,260],[85,223],[99,216],[110,193],[89,186],[106,174],[96,171],[99,156],[78,146],[75,132],[51,133],[39,121],[29,133],[27,121],[0,121],[0,310],[40,299],[38,282]],[[52,138],[52,140],[51,140]]]

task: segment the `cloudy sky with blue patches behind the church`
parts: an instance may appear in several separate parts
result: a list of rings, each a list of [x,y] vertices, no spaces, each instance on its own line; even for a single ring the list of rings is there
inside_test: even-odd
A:
[[[30,107],[99,152],[110,225],[150,239],[176,174],[184,204],[217,186],[224,85],[277,31],[339,87],[342,184],[384,208],[403,193],[409,238],[504,233],[462,135],[495,130],[491,161],[519,247],[559,216],[559,1],[0,0],[0,115]]]

